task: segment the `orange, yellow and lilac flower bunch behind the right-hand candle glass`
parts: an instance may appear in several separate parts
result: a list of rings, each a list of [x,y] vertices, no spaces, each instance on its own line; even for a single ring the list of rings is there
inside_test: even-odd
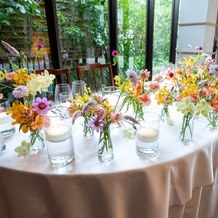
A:
[[[115,84],[120,88],[121,95],[124,95],[124,99],[120,105],[121,110],[126,107],[126,111],[130,107],[133,108],[133,112],[136,119],[140,119],[140,114],[143,112],[144,106],[151,104],[151,94],[157,92],[160,89],[160,82],[163,81],[161,75],[154,78],[153,81],[149,81],[150,72],[141,70],[139,75],[129,69],[126,72],[127,78],[124,82],[121,82],[119,76],[115,76]]]

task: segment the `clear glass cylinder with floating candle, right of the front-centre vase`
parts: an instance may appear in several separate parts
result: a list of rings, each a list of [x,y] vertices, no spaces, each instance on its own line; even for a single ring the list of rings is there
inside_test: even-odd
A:
[[[144,112],[140,127],[136,131],[136,153],[143,158],[158,154],[160,116],[153,112]]]

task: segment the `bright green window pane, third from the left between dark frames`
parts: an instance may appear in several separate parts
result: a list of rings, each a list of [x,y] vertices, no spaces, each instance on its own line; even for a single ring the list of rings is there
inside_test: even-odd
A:
[[[119,74],[145,65],[146,1],[118,0]]]

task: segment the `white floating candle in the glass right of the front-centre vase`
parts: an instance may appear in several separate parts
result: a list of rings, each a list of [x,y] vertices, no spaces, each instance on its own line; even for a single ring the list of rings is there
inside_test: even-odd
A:
[[[142,127],[138,129],[136,137],[142,142],[155,142],[159,138],[159,131],[150,127]]]

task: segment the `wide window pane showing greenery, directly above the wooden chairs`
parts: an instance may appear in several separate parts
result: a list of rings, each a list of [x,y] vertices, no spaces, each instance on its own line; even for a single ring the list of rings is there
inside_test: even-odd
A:
[[[108,7],[100,0],[56,0],[63,67],[109,62]]]

